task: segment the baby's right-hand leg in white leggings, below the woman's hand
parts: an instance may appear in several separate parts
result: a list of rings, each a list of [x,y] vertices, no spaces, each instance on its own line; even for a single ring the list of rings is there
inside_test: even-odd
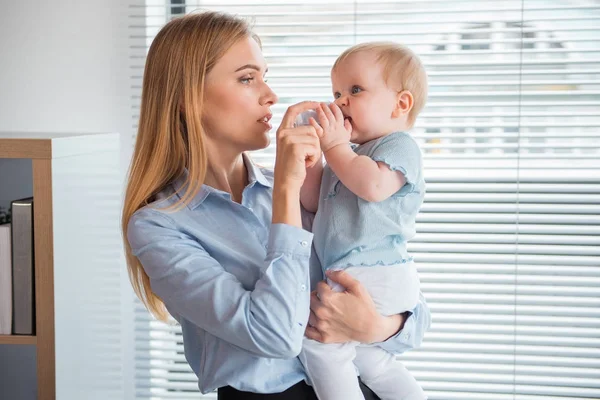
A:
[[[427,395],[396,357],[380,347],[356,348],[354,364],[363,383],[381,400],[424,400]]]

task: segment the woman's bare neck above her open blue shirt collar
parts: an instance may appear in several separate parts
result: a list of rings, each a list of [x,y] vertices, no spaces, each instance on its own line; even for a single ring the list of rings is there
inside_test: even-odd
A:
[[[242,202],[242,192],[248,185],[248,171],[242,154],[232,157],[209,155],[204,184],[231,194],[236,203]]]

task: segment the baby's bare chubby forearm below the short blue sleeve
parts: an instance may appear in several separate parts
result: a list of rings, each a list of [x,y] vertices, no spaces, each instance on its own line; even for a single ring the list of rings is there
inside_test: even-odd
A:
[[[404,174],[386,163],[359,156],[350,146],[335,146],[325,152],[327,163],[352,193],[366,201],[383,201],[406,183]]]

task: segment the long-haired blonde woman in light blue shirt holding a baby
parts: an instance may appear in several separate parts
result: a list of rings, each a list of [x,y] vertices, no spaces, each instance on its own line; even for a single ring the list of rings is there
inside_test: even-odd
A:
[[[299,193],[321,153],[314,128],[293,121],[317,103],[287,110],[274,172],[257,167],[245,152],[269,145],[277,102],[266,71],[241,19],[205,12],[163,27],[146,62],[123,209],[137,295],[158,319],[181,324],[200,390],[219,388],[222,400],[316,399],[296,357],[305,334],[402,352],[429,326],[424,300],[383,317],[344,273],[330,278],[345,292],[319,282],[311,296],[310,271],[322,276]]]

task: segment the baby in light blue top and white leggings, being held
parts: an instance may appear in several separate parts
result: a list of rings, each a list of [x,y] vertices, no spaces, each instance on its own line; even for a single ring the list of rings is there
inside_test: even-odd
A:
[[[339,56],[331,81],[335,101],[309,120],[327,165],[308,171],[301,193],[304,208],[316,212],[315,251],[324,271],[343,269],[359,280],[382,315],[401,314],[420,294],[407,241],[425,181],[421,151],[407,131],[425,105],[427,74],[410,49],[376,42]],[[376,344],[305,339],[300,359],[320,400],[363,400],[357,370],[383,400],[427,398],[395,355]]]

